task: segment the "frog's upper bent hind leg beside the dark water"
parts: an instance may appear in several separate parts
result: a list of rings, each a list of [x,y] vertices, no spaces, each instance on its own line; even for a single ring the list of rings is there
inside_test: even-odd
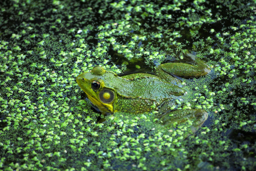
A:
[[[189,53],[185,55],[189,57],[194,64],[197,64],[197,66],[188,63],[164,63],[158,66],[157,74],[162,76],[164,72],[165,74],[180,76],[182,78],[195,78],[206,75],[211,71],[207,64],[201,59]]]

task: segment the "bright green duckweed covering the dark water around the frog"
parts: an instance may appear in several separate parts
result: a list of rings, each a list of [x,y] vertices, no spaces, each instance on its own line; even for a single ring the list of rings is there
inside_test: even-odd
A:
[[[255,1],[3,1],[0,170],[255,170]],[[156,112],[98,122],[75,78],[94,66],[154,71],[194,53],[171,109],[209,119],[163,128]],[[152,108],[155,108],[152,106]],[[242,158],[242,160],[241,160]]]

